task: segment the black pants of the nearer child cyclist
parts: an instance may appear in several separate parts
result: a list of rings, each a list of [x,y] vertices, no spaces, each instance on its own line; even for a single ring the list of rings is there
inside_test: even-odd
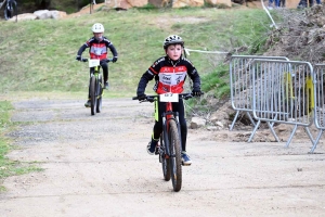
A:
[[[158,102],[159,120],[154,125],[154,138],[159,139],[162,132],[162,116],[166,111],[166,102]],[[172,103],[172,112],[179,113],[179,120],[181,125],[182,151],[186,151],[187,125],[185,119],[185,110],[183,100]]]

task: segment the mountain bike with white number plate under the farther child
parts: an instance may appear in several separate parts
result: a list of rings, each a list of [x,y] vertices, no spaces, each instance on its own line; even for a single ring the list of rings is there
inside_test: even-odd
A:
[[[100,60],[93,59],[81,59],[82,62],[88,62],[89,67],[93,68],[90,73],[89,78],[89,93],[90,93],[90,113],[101,113],[102,111],[102,99],[104,92],[104,82],[100,65]],[[112,62],[112,59],[107,59],[106,62]]]

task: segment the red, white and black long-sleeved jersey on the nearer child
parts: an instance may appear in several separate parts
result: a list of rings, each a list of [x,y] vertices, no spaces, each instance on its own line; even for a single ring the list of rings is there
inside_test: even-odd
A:
[[[181,93],[187,75],[193,80],[193,88],[199,88],[200,78],[191,61],[183,56],[178,61],[172,61],[168,56],[160,58],[142,75],[136,93],[138,95],[144,93],[147,82],[153,78],[156,80],[154,90],[158,94]]]

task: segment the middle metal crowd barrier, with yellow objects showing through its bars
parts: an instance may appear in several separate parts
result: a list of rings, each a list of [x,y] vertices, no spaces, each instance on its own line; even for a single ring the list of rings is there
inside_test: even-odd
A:
[[[288,146],[298,126],[309,132],[308,127],[314,123],[313,67],[309,62],[255,60],[253,72],[252,113],[258,124],[250,140],[261,122],[289,124],[295,127]],[[273,126],[269,127],[277,139]]]

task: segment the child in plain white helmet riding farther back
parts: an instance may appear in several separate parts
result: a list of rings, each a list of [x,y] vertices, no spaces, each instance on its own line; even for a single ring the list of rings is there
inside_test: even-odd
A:
[[[77,53],[77,61],[81,61],[81,54],[82,52],[89,48],[89,54],[90,59],[100,59],[101,66],[103,68],[103,74],[104,74],[104,88],[108,89],[108,65],[107,62],[105,61],[107,59],[107,48],[110,50],[113,54],[113,62],[115,63],[118,59],[117,51],[113,43],[103,36],[104,34],[104,26],[100,23],[95,23],[92,28],[93,37],[90,38],[86,43],[83,43],[80,49],[78,50]],[[94,68],[90,68],[90,73]],[[86,107],[90,107],[90,93],[88,93],[88,101],[84,103]]]

